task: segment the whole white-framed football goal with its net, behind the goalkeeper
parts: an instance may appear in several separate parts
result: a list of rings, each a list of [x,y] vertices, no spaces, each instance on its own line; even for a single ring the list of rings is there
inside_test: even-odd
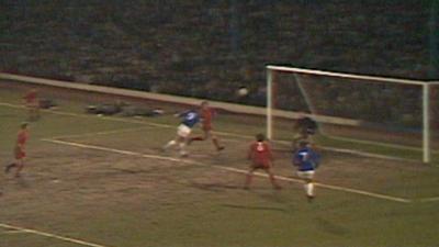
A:
[[[267,87],[272,139],[291,142],[296,119],[309,116],[318,123],[318,146],[439,161],[437,82],[267,66]]]

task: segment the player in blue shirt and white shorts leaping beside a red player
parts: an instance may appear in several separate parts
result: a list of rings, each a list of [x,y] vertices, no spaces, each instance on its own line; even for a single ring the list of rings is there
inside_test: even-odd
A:
[[[169,141],[165,146],[164,150],[167,150],[169,147],[178,145],[180,149],[180,156],[188,156],[188,151],[184,149],[189,135],[192,132],[192,128],[200,122],[200,114],[196,110],[189,110],[183,113],[177,114],[176,116],[181,119],[181,123],[177,128],[176,138]]]

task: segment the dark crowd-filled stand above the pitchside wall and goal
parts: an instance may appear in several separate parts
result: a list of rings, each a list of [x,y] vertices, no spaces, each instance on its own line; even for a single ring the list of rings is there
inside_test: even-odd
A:
[[[268,64],[437,79],[438,9],[419,0],[2,0],[0,71],[225,101],[246,85],[247,101],[263,104]]]

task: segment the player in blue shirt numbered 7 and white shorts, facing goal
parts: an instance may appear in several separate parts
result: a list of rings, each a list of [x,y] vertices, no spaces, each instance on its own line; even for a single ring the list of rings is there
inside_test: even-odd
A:
[[[315,197],[313,179],[319,161],[320,156],[309,147],[308,142],[299,143],[299,149],[293,156],[293,165],[297,167],[297,176],[305,181],[304,189],[308,202]]]

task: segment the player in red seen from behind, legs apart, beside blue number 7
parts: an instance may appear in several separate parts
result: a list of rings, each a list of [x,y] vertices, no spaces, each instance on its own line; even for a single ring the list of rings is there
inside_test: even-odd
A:
[[[262,134],[256,135],[256,142],[250,145],[248,150],[248,159],[251,160],[250,169],[247,173],[246,183],[244,189],[248,189],[251,179],[254,177],[254,172],[257,169],[263,169],[270,177],[271,184],[273,184],[274,189],[281,189],[278,182],[274,179],[273,173],[271,172],[271,167],[273,166],[273,155],[271,153],[271,148],[268,143],[264,142],[266,137]]]

